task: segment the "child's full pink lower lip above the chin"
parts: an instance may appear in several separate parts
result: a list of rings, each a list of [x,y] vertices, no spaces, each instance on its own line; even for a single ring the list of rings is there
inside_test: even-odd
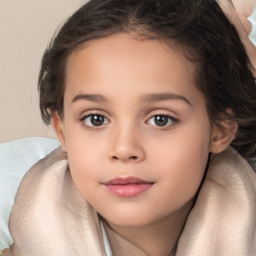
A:
[[[132,197],[149,189],[153,183],[104,184],[106,189],[116,196]]]

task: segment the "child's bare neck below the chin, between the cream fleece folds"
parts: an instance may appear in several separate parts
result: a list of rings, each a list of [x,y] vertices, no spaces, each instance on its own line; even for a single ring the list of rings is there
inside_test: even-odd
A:
[[[175,246],[192,200],[171,215],[143,226],[117,226],[104,219],[113,255],[167,256]]]

